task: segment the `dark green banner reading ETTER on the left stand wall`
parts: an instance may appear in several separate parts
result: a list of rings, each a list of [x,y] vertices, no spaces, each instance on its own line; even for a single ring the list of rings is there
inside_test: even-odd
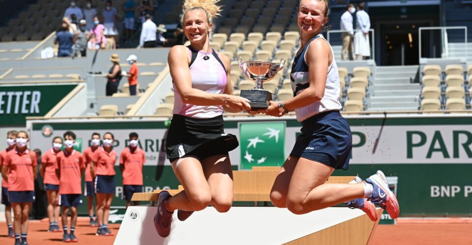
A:
[[[1,86],[0,126],[25,125],[26,117],[46,115],[76,86]]]

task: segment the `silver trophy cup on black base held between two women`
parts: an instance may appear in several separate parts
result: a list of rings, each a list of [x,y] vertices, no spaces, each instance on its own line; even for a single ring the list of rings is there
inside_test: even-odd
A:
[[[237,57],[239,68],[252,81],[256,82],[256,86],[249,90],[241,90],[241,97],[249,99],[251,110],[267,109],[269,103],[267,101],[274,100],[274,94],[265,90],[262,84],[274,78],[275,74],[284,68],[285,59],[281,59],[279,64],[264,61],[242,61],[241,57]]]

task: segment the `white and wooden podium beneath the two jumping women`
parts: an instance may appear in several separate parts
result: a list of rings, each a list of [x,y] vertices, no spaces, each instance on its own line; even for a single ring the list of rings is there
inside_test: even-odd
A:
[[[273,168],[273,167],[267,167]],[[371,221],[359,209],[330,207],[304,215],[287,209],[258,207],[260,201],[270,201],[269,192],[277,169],[257,168],[253,171],[234,171],[235,201],[252,201],[255,206],[232,207],[227,213],[214,208],[195,212],[182,222],[174,212],[171,234],[161,238],[154,230],[159,190],[136,193],[133,201],[150,201],[150,205],[128,207],[119,228],[115,245],[365,245],[378,221]],[[330,177],[327,183],[348,183],[350,177]],[[171,195],[182,191],[168,190]],[[378,208],[379,217],[382,209]]]

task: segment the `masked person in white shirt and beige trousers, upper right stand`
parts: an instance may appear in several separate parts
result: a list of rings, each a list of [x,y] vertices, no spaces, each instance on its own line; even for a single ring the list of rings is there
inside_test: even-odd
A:
[[[349,60],[354,60],[353,49],[354,49],[354,26],[353,26],[353,14],[355,12],[354,4],[349,3],[346,7],[346,12],[341,16],[341,30],[345,32],[341,33],[343,40],[343,50],[341,51],[341,60],[345,59],[346,52],[349,52]]]

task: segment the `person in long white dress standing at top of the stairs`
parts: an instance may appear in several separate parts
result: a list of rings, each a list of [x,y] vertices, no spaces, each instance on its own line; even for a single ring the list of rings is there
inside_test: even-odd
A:
[[[356,31],[354,35],[355,59],[358,60],[360,58],[359,56],[363,56],[362,59],[365,60],[370,56],[370,18],[364,11],[364,3],[360,2],[357,4],[357,13],[355,14],[355,17],[357,19],[355,28],[360,29]]]

